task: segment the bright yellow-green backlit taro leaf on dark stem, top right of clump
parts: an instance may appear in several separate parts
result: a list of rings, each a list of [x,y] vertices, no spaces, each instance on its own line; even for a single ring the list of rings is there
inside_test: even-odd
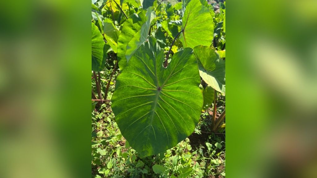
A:
[[[200,0],[191,0],[183,14],[180,41],[184,48],[198,45],[210,46],[213,40],[213,19],[209,9]]]

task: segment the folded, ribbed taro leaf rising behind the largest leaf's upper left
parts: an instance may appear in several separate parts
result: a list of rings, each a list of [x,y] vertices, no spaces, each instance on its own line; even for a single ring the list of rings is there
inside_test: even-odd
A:
[[[118,64],[120,70],[126,67],[131,56],[146,41],[150,24],[155,18],[155,12],[152,7],[142,10],[139,14],[133,14],[124,22],[120,36],[118,38]]]

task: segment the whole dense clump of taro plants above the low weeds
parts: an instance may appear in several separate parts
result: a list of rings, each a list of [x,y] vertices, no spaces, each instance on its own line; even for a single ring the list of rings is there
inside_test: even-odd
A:
[[[223,12],[224,8],[222,9]],[[100,0],[92,4],[92,70],[100,72],[107,53],[121,73],[111,108],[121,134],[140,156],[170,149],[190,136],[217,92],[225,95],[224,16],[205,0],[169,2]],[[217,29],[216,29],[217,28]],[[219,55],[220,54],[220,55]],[[93,72],[98,99],[102,82]],[[199,87],[200,86],[200,87]]]

